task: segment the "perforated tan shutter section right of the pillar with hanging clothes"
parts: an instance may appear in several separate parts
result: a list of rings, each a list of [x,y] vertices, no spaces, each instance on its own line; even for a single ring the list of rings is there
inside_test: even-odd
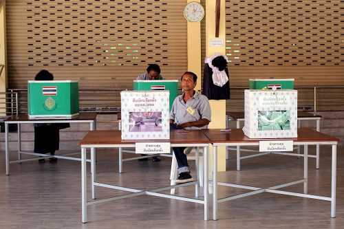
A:
[[[231,86],[248,87],[249,78],[343,86],[343,14],[336,0],[226,0]]]

